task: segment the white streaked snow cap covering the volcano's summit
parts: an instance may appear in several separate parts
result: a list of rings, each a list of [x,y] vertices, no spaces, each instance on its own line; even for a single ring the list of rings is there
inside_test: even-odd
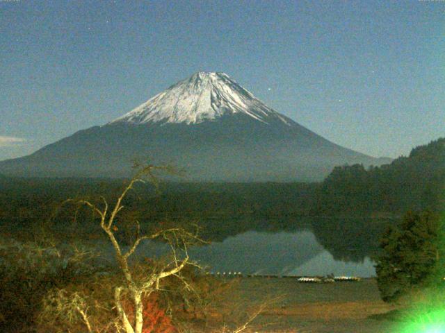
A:
[[[225,73],[200,71],[181,80],[111,123],[201,123],[225,114],[243,113],[268,123],[290,119],[275,112]]]

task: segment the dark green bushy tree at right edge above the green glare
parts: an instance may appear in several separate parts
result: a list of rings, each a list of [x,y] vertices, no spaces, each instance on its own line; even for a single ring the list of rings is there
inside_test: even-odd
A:
[[[394,301],[431,282],[442,257],[439,219],[430,212],[409,212],[396,227],[388,228],[380,241],[375,271],[382,299]]]

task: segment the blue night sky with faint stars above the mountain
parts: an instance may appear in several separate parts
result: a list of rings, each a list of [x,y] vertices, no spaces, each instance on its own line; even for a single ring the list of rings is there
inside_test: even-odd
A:
[[[195,71],[373,156],[445,136],[445,1],[0,0],[0,160]]]

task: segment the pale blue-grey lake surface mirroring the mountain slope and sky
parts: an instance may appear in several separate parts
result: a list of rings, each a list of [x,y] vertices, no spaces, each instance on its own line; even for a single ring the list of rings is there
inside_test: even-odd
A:
[[[159,247],[155,247],[158,252]],[[145,244],[138,252],[143,255],[153,251],[154,244]],[[247,231],[189,252],[192,259],[213,273],[375,276],[369,257],[356,262],[334,259],[310,230]]]

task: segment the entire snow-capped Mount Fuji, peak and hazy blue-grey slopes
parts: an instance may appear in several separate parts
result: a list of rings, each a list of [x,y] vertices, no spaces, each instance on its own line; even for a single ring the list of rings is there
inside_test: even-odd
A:
[[[224,73],[199,72],[122,117],[0,162],[8,176],[122,177],[134,160],[197,181],[321,180],[336,165],[380,165],[269,108]]]

